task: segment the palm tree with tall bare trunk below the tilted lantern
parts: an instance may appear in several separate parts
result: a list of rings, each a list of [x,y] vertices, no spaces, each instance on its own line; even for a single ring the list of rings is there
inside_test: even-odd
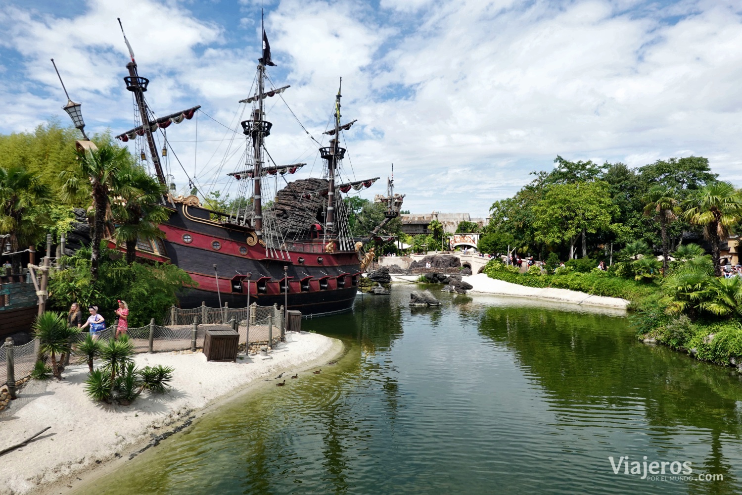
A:
[[[99,149],[85,151],[79,155],[79,174],[63,171],[59,174],[62,184],[62,200],[69,201],[81,197],[93,197],[93,240],[91,243],[91,277],[98,279],[100,243],[105,234],[105,223],[111,220],[111,205],[108,194],[116,189],[120,196],[132,194],[129,186],[116,180],[131,168],[131,155],[126,148],[102,145]],[[114,186],[117,186],[114,188]],[[133,188],[132,188],[133,189]]]

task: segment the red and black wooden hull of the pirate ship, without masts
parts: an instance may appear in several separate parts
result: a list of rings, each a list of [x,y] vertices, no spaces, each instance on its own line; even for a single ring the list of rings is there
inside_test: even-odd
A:
[[[244,307],[249,295],[251,304],[288,303],[302,315],[352,309],[361,275],[357,252],[327,252],[319,240],[266,249],[252,229],[214,220],[213,212],[190,198],[191,204],[188,198],[171,203],[170,218],[160,226],[165,238],[151,252],[139,252],[174,263],[197,282],[180,291],[181,307]]]

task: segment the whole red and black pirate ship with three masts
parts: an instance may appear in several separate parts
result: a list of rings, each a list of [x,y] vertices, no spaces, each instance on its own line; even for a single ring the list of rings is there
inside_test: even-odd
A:
[[[168,194],[162,198],[163,206],[170,211],[169,219],[160,226],[164,237],[140,240],[137,254],[175,263],[198,283],[197,288],[184,288],[180,295],[184,308],[200,306],[202,301],[209,306],[227,303],[232,307],[257,301],[260,306],[286,304],[288,309],[298,309],[303,315],[347,311],[357,293],[358,278],[373,258],[373,250],[364,249],[371,237],[352,236],[341,194],[370,187],[378,177],[340,180],[347,151],[341,147],[340,138],[355,120],[341,123],[338,89],[332,126],[324,132],[329,143],[318,142],[318,154],[324,163],[322,177],[286,181],[283,189],[271,189],[268,177],[293,174],[306,164],[278,165],[266,151],[266,138],[273,124],[265,119],[264,102],[289,86],[266,89],[267,68],[275,63],[264,28],[262,35],[263,50],[252,96],[240,100],[246,108],[249,105],[249,119],[240,122],[245,161],[228,174],[239,183],[238,200],[232,202],[230,212],[217,212],[206,208],[195,194]],[[166,154],[171,148],[165,129],[191,119],[200,106],[157,118],[145,98],[149,80],[139,76],[134,52],[125,35],[124,39],[131,56],[124,81],[134,96],[136,127],[117,138],[123,142],[135,140],[137,151],[154,168],[160,182],[174,189],[168,181],[171,176],[163,172],[157,140],[161,138]],[[386,214],[371,236],[399,214],[404,195],[395,194],[393,188],[393,179],[388,179],[387,194],[375,198],[385,203]],[[272,204],[266,207],[266,200],[271,198]]]

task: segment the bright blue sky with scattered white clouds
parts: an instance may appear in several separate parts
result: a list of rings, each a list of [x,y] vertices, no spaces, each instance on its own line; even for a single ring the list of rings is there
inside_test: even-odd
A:
[[[171,125],[179,188],[234,194],[241,168],[237,100],[250,96],[260,1],[3,0],[0,132],[65,124],[82,102],[86,131],[133,127],[120,17],[151,79],[158,115],[202,105]],[[318,140],[343,77],[351,160],[344,178],[387,177],[413,212],[485,216],[528,172],[570,160],[632,166],[704,156],[742,183],[742,7],[738,1],[265,0],[276,85]],[[267,147],[309,165],[317,146],[278,98]],[[246,117],[243,117],[245,119]],[[313,166],[312,166],[313,165]],[[312,170],[313,168],[313,170]],[[384,192],[379,181],[366,197]]]

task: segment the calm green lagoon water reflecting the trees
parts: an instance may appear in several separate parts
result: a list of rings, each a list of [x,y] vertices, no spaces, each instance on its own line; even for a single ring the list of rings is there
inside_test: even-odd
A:
[[[606,309],[364,295],[304,321],[347,355],[204,416],[90,494],[737,494],[742,381],[634,341]],[[435,289],[434,289],[435,290]],[[691,462],[691,480],[608,456]],[[723,481],[698,481],[699,473]]]

